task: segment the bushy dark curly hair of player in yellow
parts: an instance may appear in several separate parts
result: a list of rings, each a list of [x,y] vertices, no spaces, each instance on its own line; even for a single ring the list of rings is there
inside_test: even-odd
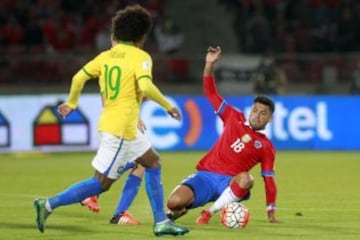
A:
[[[138,4],[116,12],[112,18],[111,33],[114,40],[139,42],[152,28],[150,13]]]

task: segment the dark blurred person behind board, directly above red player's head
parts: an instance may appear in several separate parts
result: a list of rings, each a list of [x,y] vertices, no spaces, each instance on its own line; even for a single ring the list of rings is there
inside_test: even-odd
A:
[[[254,92],[256,94],[285,93],[287,76],[285,71],[275,62],[272,50],[267,50],[259,66],[252,75]]]

